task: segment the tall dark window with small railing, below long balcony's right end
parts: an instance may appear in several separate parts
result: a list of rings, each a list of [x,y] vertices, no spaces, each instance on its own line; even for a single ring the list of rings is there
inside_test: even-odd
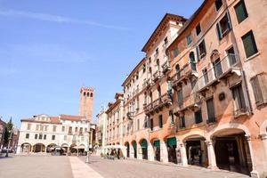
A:
[[[246,103],[242,90],[242,85],[237,85],[231,88],[233,100],[235,103],[235,114],[239,115],[239,113],[246,112]]]

